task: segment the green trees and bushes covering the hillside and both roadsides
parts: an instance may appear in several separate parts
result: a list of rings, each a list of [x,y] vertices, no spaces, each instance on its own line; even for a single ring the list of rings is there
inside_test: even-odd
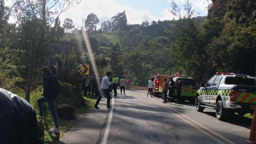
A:
[[[79,4],[78,0],[69,2]],[[83,21],[84,27],[74,28],[72,19],[59,19],[61,9],[56,14],[55,10],[43,8],[39,1],[29,0],[7,7],[0,0],[0,87],[25,98],[28,67],[32,66],[30,104],[38,112],[41,68],[48,66],[62,87],[58,105],[73,106],[77,115],[91,108],[95,100],[82,97],[82,76],[77,73],[78,64],[91,65],[84,30],[89,35],[99,74],[111,71],[119,77],[129,77],[132,85],[146,86],[156,72],[179,72],[193,77],[198,86],[217,71],[255,76],[256,21],[249,17],[245,24],[238,24],[242,12],[252,15],[256,9],[254,1],[230,0],[224,4],[222,15],[213,19],[197,16],[189,0],[185,1],[184,10],[174,1],[170,4],[170,14],[176,16],[173,20],[130,25],[123,11],[103,22],[99,29],[94,13]],[[15,23],[8,22],[11,15]],[[90,76],[93,74],[91,65]],[[86,105],[79,105],[79,100]],[[44,126],[46,143],[50,143],[53,137],[47,130],[53,123],[47,104],[45,111],[46,120],[40,124]],[[68,121],[60,118],[61,131],[70,129],[65,123]]]

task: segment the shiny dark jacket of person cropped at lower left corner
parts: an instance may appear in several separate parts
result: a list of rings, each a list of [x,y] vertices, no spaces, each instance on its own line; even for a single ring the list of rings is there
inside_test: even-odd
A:
[[[35,109],[26,100],[1,88],[0,143],[44,144]]]

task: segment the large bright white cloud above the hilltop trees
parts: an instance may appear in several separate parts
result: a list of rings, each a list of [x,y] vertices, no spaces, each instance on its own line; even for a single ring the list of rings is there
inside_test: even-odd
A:
[[[148,10],[136,10],[129,5],[118,4],[115,0],[93,0],[93,1],[82,1],[78,5],[74,5],[67,12],[60,15],[61,22],[65,18],[71,18],[75,27],[79,28],[82,26],[83,15],[86,18],[89,13],[94,13],[98,16],[100,22],[97,26],[99,28],[101,23],[106,20],[110,20],[112,16],[125,10],[127,16],[127,23],[129,24],[140,24],[142,21],[148,20],[172,20],[173,16],[164,9],[160,17],[152,15]]]

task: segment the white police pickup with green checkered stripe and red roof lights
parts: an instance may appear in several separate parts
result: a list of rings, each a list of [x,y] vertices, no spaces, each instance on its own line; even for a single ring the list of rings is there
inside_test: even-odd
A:
[[[218,120],[237,112],[243,116],[256,108],[256,79],[243,74],[217,72],[196,95],[196,110],[216,109]]]

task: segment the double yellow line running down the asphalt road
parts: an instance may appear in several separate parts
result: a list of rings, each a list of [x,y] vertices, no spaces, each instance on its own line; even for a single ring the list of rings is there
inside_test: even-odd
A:
[[[140,94],[140,95],[142,95],[143,97],[146,97],[144,94]],[[184,115],[184,114],[181,114],[180,112],[176,111],[175,109],[170,108],[170,107],[167,107],[166,105],[164,105],[163,103],[158,102],[157,100],[154,100],[154,99],[149,99],[149,100],[151,100],[151,101],[157,103],[158,105],[160,105],[160,106],[162,106],[162,107],[165,107],[165,109],[167,109],[167,110],[170,111],[170,112],[172,112],[172,111],[176,112],[176,113],[174,113],[176,116],[178,116],[179,118],[183,119],[185,122],[187,122],[187,123],[190,124],[191,126],[195,127],[197,130],[199,130],[200,128],[198,128],[198,127],[195,126],[194,124],[190,123],[189,121],[187,121],[187,120],[184,119],[183,117],[185,117],[185,118],[187,118],[188,120],[190,120],[190,121],[194,122],[195,124],[199,125],[199,126],[200,126],[201,128],[203,128],[204,130],[207,130],[208,132],[211,132],[212,134],[214,134],[214,135],[220,137],[221,139],[227,141],[228,143],[230,143],[230,144],[235,144],[235,143],[232,142],[231,140],[228,140],[227,138],[221,136],[220,134],[218,134],[218,133],[216,133],[216,132],[213,132],[213,131],[210,130],[209,128],[205,127],[205,126],[202,125],[202,124],[199,124],[198,122],[196,122],[195,120],[189,118],[188,116],[186,116],[186,115]],[[172,110],[172,111],[171,111],[171,110]],[[178,114],[179,114],[179,115],[178,115]],[[181,117],[180,115],[183,116],[183,117]],[[199,131],[200,131],[200,132],[203,132],[204,134],[206,134],[207,132],[205,132],[204,130],[200,129]],[[209,133],[207,133],[206,135],[209,136],[210,138],[212,138],[213,140],[217,141],[218,143],[223,143],[223,142],[221,142],[220,140],[218,140],[218,139],[216,139],[215,137],[213,137],[212,135],[210,135]]]

